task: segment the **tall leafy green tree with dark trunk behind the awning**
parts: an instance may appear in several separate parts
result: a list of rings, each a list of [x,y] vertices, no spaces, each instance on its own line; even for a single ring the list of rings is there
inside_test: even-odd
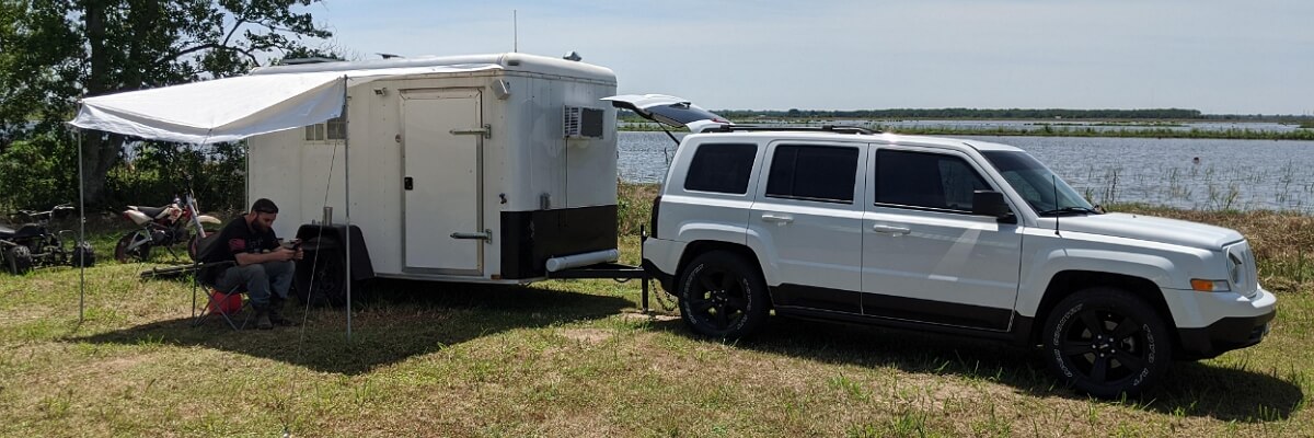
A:
[[[0,153],[16,139],[70,138],[63,121],[83,97],[233,76],[306,53],[302,39],[331,34],[292,9],[318,1],[0,0]],[[125,138],[81,135],[87,200],[99,204]]]

